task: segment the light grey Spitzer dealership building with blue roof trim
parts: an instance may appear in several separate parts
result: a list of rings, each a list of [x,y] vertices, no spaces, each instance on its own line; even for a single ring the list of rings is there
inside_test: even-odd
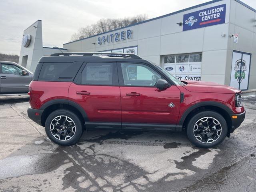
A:
[[[19,64],[33,71],[41,56],[56,52],[134,53],[179,80],[252,90],[256,89],[256,10],[240,0],[213,0],[67,42],[62,49],[42,46],[38,20],[24,31]]]

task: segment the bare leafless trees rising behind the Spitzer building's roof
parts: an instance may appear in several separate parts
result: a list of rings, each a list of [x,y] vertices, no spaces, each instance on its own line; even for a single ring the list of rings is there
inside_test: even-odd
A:
[[[91,24],[86,27],[79,28],[76,33],[72,34],[70,41],[75,41],[75,40],[83,39],[93,35],[97,35],[100,33],[104,33],[110,30],[115,30],[121,27],[142,22],[147,19],[148,19],[148,16],[146,14],[141,14],[134,17],[119,18],[119,19],[102,18],[98,20],[98,22],[96,22],[95,24]]]

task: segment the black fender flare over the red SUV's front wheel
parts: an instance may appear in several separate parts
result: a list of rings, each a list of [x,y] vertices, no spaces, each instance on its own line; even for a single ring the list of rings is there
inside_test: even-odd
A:
[[[186,111],[182,114],[181,118],[180,118],[180,125],[183,125],[186,117],[188,116],[188,114],[190,114],[190,112],[192,112],[194,109],[198,108],[198,107],[203,107],[203,106],[214,106],[214,107],[218,107],[221,108],[222,110],[226,111],[228,114],[233,114],[234,112],[226,105],[220,103],[220,102],[216,102],[216,101],[204,101],[204,102],[199,102],[196,103],[194,105],[192,105],[190,108],[186,109]]]

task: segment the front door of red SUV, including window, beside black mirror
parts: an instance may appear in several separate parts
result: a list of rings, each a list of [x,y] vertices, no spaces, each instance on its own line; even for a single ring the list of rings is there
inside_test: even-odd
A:
[[[119,63],[122,128],[173,129],[180,111],[180,90],[158,90],[162,76],[142,63]]]

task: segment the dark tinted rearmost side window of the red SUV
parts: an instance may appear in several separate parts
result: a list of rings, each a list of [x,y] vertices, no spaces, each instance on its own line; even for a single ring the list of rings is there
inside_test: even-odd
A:
[[[38,81],[72,82],[82,62],[44,63]]]

